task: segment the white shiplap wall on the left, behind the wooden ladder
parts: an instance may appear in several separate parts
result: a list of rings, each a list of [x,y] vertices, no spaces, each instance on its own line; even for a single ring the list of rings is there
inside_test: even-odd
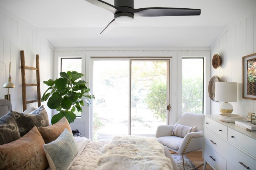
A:
[[[0,8],[0,99],[8,94],[3,84],[8,80],[9,62],[11,62],[11,78],[16,88],[10,88],[11,103],[14,111],[22,112],[22,88],[20,50],[25,51],[25,65],[36,66],[36,54],[39,54],[41,95],[46,90],[43,80],[53,76],[53,47],[32,25]],[[26,82],[36,83],[36,72],[26,71]],[[36,99],[36,87],[27,87],[27,100]],[[44,103],[42,103],[44,104]],[[51,119],[52,111],[44,104]],[[28,104],[36,107],[37,103]]]

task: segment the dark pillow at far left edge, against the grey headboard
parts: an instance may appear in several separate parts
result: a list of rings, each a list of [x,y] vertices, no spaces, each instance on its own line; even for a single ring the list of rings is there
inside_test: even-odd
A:
[[[8,144],[19,138],[20,133],[15,116],[12,111],[9,111],[9,113],[0,118],[0,145]]]

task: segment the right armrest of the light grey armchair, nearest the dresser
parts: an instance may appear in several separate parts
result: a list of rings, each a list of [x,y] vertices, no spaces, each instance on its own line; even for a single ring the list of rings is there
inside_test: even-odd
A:
[[[184,154],[203,148],[203,131],[186,134],[177,153]]]

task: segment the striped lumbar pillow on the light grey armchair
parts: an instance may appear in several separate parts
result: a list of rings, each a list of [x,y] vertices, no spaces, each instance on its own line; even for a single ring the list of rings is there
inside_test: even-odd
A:
[[[196,131],[196,126],[190,127],[190,126],[185,126],[181,124],[175,124],[171,135],[184,138],[186,134],[194,131]]]

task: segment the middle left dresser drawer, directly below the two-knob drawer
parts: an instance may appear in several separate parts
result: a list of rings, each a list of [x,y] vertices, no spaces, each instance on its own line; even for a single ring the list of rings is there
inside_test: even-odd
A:
[[[204,142],[224,159],[227,159],[227,142],[207,128],[204,128]]]

